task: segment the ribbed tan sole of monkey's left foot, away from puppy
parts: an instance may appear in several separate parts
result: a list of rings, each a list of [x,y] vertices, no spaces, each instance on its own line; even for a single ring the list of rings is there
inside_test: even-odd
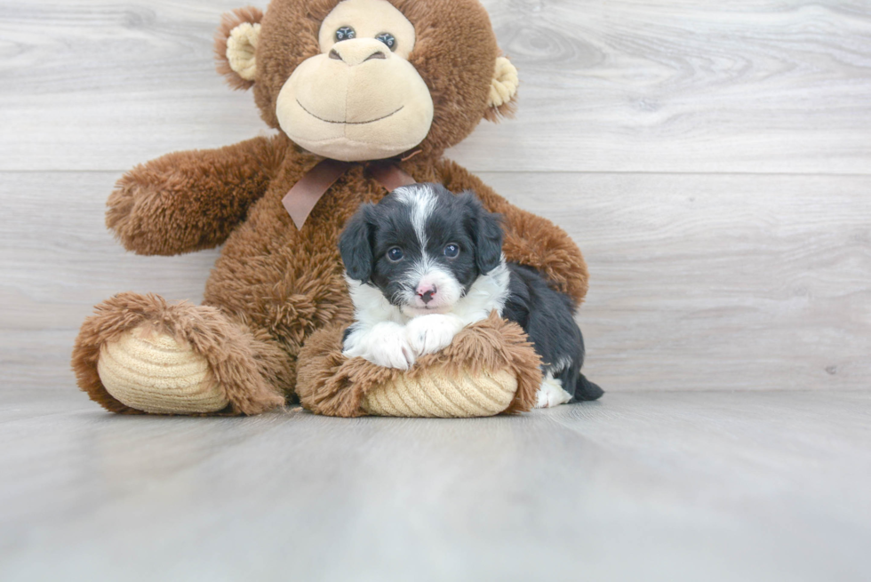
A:
[[[121,403],[152,414],[217,412],[228,399],[202,355],[142,328],[100,348],[100,381]]]

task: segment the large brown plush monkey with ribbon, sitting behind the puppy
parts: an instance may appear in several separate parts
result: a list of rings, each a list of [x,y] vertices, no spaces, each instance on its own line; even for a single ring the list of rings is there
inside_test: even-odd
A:
[[[202,306],[121,293],[96,307],[73,352],[94,401],[123,413],[258,414],[299,395],[319,413],[379,412],[366,393],[398,372],[341,361],[336,338],[353,313],[337,241],[397,177],[475,190],[505,217],[507,259],[583,299],[587,267],[571,239],[443,159],[513,108],[516,71],[478,2],[273,0],[266,14],[226,16],[216,51],[278,133],[164,155],[119,180],[106,220],[128,250],[224,247]],[[492,317],[457,345],[409,378],[490,366],[489,378],[517,380],[507,410],[530,408],[538,360],[519,328]]]

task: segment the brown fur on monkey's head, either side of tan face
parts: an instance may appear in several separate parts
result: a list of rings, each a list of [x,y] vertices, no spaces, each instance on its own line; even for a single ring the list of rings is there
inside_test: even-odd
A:
[[[338,0],[278,0],[260,20],[259,70],[253,90],[270,127],[279,126],[278,92],[303,60],[320,52],[320,23],[336,4]],[[487,12],[474,0],[391,0],[391,4],[414,24],[417,44],[409,62],[427,81],[435,102],[435,123],[419,147],[428,157],[440,157],[445,148],[464,140],[488,111],[500,54],[496,36]],[[219,59],[224,62],[226,57]],[[240,85],[233,75],[229,77]],[[507,113],[510,108],[506,104],[499,110]]]

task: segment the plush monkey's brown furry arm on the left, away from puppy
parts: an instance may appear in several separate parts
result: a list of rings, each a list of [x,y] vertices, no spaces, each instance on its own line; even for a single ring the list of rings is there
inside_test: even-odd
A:
[[[164,155],[118,180],[106,226],[128,251],[175,255],[223,243],[266,193],[287,140],[254,138]]]

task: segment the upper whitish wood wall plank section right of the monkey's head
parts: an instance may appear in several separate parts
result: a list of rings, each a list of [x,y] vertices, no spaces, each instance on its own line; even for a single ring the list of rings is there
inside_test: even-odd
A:
[[[856,2],[486,3],[521,75],[487,171],[867,173],[871,8]]]

